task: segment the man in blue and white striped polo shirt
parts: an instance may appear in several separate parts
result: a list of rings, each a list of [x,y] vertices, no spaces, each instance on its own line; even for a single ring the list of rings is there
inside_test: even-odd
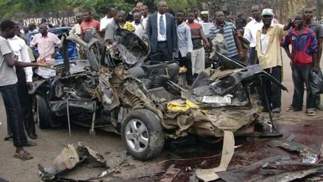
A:
[[[224,13],[219,11],[216,12],[216,22],[212,28],[210,28],[210,36],[213,39],[217,34],[223,34],[224,40],[228,45],[228,56],[234,59],[239,59],[243,57],[243,51],[241,47],[240,40],[234,35],[236,32],[236,27],[233,23],[224,21]],[[237,49],[238,48],[238,49]]]

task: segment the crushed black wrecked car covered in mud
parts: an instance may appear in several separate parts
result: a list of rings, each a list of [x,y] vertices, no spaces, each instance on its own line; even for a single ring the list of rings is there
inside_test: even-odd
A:
[[[183,88],[176,83],[177,63],[149,61],[147,46],[132,32],[118,29],[114,39],[110,45],[99,37],[88,44],[75,35],[62,39],[63,49],[74,42],[88,59],[70,61],[65,48],[64,64],[38,71],[47,76],[34,82],[32,92],[41,129],[73,122],[91,133],[112,131],[131,155],[145,160],[161,152],[166,139],[253,133],[261,112],[259,81],[270,79],[286,89],[259,65],[241,65],[221,54],[214,74],[203,72],[192,88]]]

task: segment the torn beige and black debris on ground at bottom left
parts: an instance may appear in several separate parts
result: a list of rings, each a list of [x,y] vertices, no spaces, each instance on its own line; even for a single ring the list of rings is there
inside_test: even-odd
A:
[[[98,152],[81,144],[76,149],[73,144],[68,144],[54,159],[52,165],[44,168],[41,164],[38,164],[38,175],[42,177],[42,180],[55,181],[60,175],[83,164],[85,161],[96,161],[100,163],[100,166],[106,166],[104,157]]]

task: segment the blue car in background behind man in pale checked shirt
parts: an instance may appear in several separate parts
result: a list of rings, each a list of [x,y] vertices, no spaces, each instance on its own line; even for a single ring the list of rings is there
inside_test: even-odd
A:
[[[51,32],[53,34],[55,34],[59,39],[62,38],[62,35],[64,33],[69,34],[69,32],[71,31],[71,27],[57,27],[57,28],[52,28],[52,29],[48,29],[48,32]],[[27,36],[27,45],[30,46],[30,42],[33,40],[34,36],[36,34],[40,33],[38,30],[35,30],[33,32],[31,32],[30,34],[28,34]],[[55,50],[57,49],[57,45],[55,45]],[[33,53],[35,56],[35,59],[38,58],[38,48],[37,46],[35,47],[35,49],[33,49]],[[68,44],[68,54],[69,54],[69,58],[71,60],[75,60],[78,59],[78,54],[77,54],[77,48],[76,48],[76,44],[74,42],[70,42]],[[56,56],[55,56],[55,60],[56,62],[63,62],[63,53],[62,51],[60,51]]]

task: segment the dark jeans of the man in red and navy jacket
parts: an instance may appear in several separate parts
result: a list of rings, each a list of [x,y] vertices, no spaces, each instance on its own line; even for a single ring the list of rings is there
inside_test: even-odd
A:
[[[292,64],[292,78],[294,83],[294,95],[292,107],[296,111],[301,111],[303,107],[304,84],[306,86],[306,110],[314,110],[316,108],[315,97],[313,96],[310,86],[309,78],[313,65],[297,66]]]

